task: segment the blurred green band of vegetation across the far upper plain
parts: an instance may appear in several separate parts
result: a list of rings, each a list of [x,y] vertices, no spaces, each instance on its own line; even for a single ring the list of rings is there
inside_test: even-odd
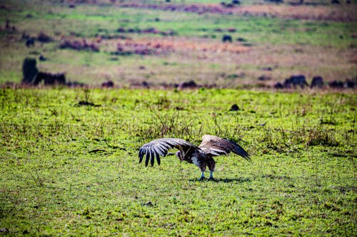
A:
[[[20,1],[21,2],[21,1]],[[19,11],[26,7],[26,11]],[[176,31],[178,36],[216,36],[221,40],[217,28],[236,28],[234,38],[248,36],[252,43],[296,44],[305,43],[321,46],[346,48],[353,43],[350,34],[356,23],[324,21],[301,21],[220,14],[199,15],[190,12],[155,11],[154,9],[119,8],[113,6],[79,5],[69,9],[64,4],[23,4],[18,11],[1,10],[0,21],[11,19],[21,30],[44,31],[54,35],[75,32],[82,37],[94,37],[98,33],[116,33],[120,27],[157,28],[161,31]],[[51,9],[51,11],[49,11]],[[27,17],[31,14],[32,17]],[[156,19],[159,19],[157,21]],[[161,21],[160,21],[161,20]],[[343,40],[338,36],[347,36]],[[268,37],[268,38],[266,38]]]

